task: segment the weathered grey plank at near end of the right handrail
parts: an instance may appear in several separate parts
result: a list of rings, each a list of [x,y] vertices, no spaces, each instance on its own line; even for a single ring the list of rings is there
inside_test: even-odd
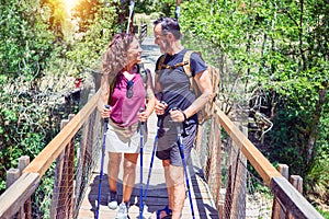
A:
[[[272,177],[270,188],[294,218],[324,219],[324,217],[283,176]]]

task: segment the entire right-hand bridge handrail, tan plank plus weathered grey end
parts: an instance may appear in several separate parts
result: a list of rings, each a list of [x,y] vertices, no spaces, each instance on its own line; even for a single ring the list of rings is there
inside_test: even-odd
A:
[[[290,210],[294,218],[324,218],[306,198],[269,162],[269,160],[253,146],[238,127],[222,112],[219,106],[215,108],[215,119],[220,124],[235,143],[240,148],[250,164],[262,177],[266,186],[280,199],[283,206]]]

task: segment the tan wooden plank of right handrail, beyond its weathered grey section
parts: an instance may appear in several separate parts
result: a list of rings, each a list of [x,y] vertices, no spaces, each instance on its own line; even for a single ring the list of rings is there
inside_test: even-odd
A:
[[[238,127],[216,106],[216,115],[214,118],[224,127],[234,142],[240,148],[242,153],[247,157],[251,165],[263,178],[269,186],[271,178],[281,176],[269,160],[252,145],[252,142],[239,130]]]

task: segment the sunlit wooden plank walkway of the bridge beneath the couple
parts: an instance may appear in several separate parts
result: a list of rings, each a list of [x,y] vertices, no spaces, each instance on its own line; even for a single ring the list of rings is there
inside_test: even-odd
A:
[[[154,64],[156,57],[159,57],[159,53],[154,45],[152,38],[146,38],[144,42],[144,57],[145,66],[151,70],[155,69]],[[155,53],[157,51],[157,53]],[[157,124],[157,116],[152,114],[148,120],[148,140],[144,147],[144,168],[143,168],[143,177],[144,177],[144,186],[147,182],[148,176],[148,169],[151,159],[151,151],[154,147],[154,139],[156,136],[156,124]],[[101,163],[101,162],[99,162]],[[105,157],[104,162],[104,180],[102,182],[102,196],[101,196],[101,207],[100,207],[100,218],[115,218],[117,210],[111,210],[107,207],[107,194],[109,194],[109,182],[106,175],[106,163],[107,158]],[[190,170],[190,184],[191,184],[191,192],[193,198],[193,207],[195,211],[195,218],[206,219],[212,218],[216,219],[218,217],[218,212],[215,208],[214,201],[208,193],[207,184],[202,177],[202,170],[198,165],[197,155],[195,151],[192,151],[192,158],[188,162],[189,170]],[[122,170],[122,168],[121,168]],[[137,162],[136,168],[136,185],[131,198],[132,206],[129,208],[128,215],[131,219],[135,219],[139,217],[139,160]],[[79,219],[87,219],[87,218],[94,218],[94,209],[97,207],[98,200],[98,186],[99,186],[99,174],[100,174],[100,166],[93,173],[91,182],[88,186],[88,191],[86,193],[84,199],[80,207],[80,211],[78,215]],[[122,178],[122,171],[120,173],[120,178]],[[122,184],[121,181],[118,182],[118,196],[121,198],[122,195]],[[159,159],[155,158],[152,174],[150,177],[150,185],[148,189],[148,197],[144,200],[146,206],[144,209],[144,218],[149,218],[149,216],[159,208],[163,208],[168,204],[168,194],[163,177],[163,168],[162,163]],[[184,208],[183,208],[183,219],[192,218],[191,214],[191,206],[189,201],[189,197],[185,199]]]

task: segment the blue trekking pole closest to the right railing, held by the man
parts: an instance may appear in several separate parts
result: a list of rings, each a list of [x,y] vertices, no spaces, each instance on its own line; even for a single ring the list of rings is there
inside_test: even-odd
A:
[[[180,111],[177,107],[172,108],[172,111],[177,111],[177,110]],[[179,145],[179,149],[180,149],[180,153],[181,153],[181,158],[182,158],[182,163],[183,163],[183,168],[184,168],[184,173],[185,173],[186,188],[188,188],[188,193],[189,193],[192,218],[195,219],[194,208],[193,208],[193,203],[192,203],[191,188],[190,188],[190,182],[189,182],[188,166],[186,166],[186,162],[185,162],[184,148],[183,148],[183,141],[182,141],[182,135],[181,135],[181,124],[180,123],[175,123],[175,129],[177,129],[177,140],[178,140],[178,145]]]

